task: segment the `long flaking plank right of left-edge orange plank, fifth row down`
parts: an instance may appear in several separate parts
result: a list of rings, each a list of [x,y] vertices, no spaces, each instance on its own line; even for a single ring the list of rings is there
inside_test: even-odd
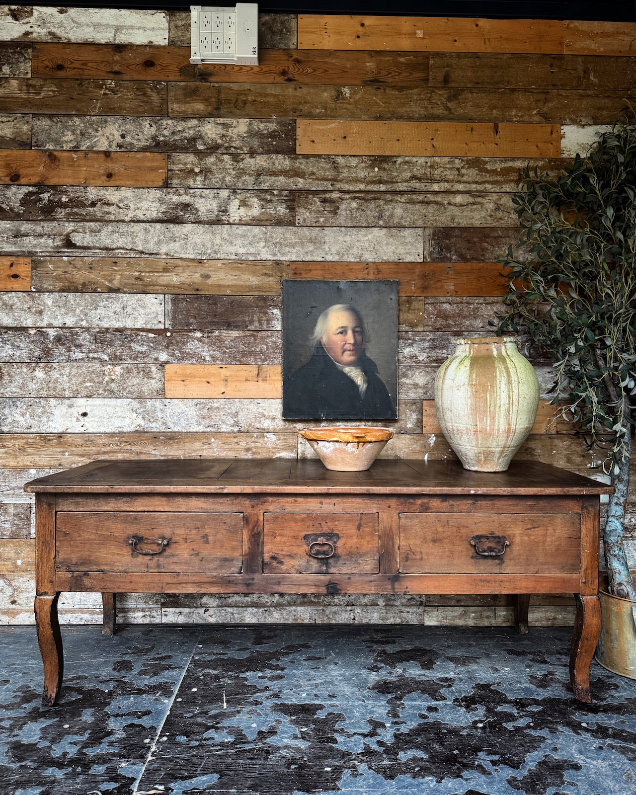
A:
[[[569,128],[566,128],[569,129]],[[563,141],[563,138],[562,138]],[[514,192],[523,169],[556,173],[560,159],[171,153],[173,188]]]

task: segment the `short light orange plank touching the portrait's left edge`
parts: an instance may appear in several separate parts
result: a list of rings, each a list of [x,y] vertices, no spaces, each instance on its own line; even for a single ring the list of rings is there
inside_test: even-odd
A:
[[[167,364],[165,397],[281,397],[280,365]]]

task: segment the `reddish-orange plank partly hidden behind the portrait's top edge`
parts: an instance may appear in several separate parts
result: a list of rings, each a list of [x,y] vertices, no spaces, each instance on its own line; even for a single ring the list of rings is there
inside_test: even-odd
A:
[[[402,297],[500,296],[506,293],[495,262],[291,262],[292,279],[398,279]]]

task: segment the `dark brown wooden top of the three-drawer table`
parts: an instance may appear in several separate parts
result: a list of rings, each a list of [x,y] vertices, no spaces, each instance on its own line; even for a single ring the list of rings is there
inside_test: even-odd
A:
[[[57,494],[611,494],[605,483],[537,461],[473,472],[459,461],[378,460],[335,472],[315,459],[94,461],[31,480]]]

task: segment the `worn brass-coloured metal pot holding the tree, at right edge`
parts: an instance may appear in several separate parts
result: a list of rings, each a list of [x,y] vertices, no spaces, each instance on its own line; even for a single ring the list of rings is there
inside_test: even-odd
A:
[[[607,581],[601,582],[599,588],[603,622],[596,661],[612,673],[636,679],[636,602],[613,596],[603,588],[607,588]]]

